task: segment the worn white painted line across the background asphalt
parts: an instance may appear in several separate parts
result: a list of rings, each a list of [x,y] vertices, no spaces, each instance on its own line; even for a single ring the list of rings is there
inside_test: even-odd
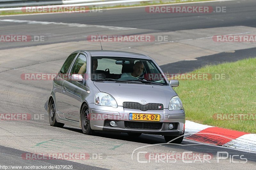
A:
[[[48,21],[29,21],[29,20],[17,20],[17,19],[0,19],[2,22],[14,22],[14,23],[27,23],[27,24],[41,24],[41,25],[67,25],[70,27],[96,27],[107,28],[109,30],[136,30],[137,28],[119,27],[119,26],[105,26],[105,25],[89,25],[89,24],[77,24],[77,23],[62,23],[62,22],[48,22]]]

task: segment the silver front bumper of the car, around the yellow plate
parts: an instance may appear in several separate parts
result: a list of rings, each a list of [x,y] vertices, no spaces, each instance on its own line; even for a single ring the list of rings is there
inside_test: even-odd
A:
[[[116,131],[116,132],[136,132],[158,134],[166,136],[179,136],[184,132],[185,111],[184,110],[147,110],[141,111],[137,109],[126,109],[122,106],[117,108],[108,106],[99,106],[94,103],[89,104],[91,115],[91,128],[98,131]],[[159,114],[160,121],[137,121],[129,120],[129,113],[141,114]],[[113,127],[106,124],[106,121],[114,120],[117,126]],[[138,126],[127,127],[127,123],[134,122]],[[168,125],[174,123],[175,129],[169,130]],[[144,126],[147,124],[147,126]],[[150,124],[158,124],[157,129],[150,128]]]

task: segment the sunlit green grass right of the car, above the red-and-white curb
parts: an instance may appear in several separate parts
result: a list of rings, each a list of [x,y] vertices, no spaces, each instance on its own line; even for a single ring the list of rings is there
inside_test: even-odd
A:
[[[214,66],[192,73],[225,74],[226,80],[180,80],[174,88],[186,119],[237,131],[256,133],[256,120],[216,120],[215,113],[256,114],[256,58]]]

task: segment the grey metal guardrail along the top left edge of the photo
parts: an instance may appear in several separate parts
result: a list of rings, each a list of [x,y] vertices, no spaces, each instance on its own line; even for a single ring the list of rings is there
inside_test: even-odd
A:
[[[39,6],[39,5],[63,5],[93,2],[107,2],[117,0],[0,0],[0,8]]]

